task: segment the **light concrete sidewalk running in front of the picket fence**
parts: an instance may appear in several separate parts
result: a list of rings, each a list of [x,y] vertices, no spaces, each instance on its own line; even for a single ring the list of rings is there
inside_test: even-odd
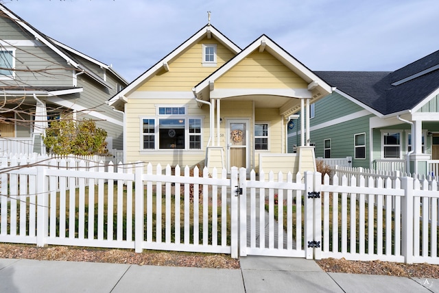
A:
[[[0,259],[0,292],[438,292],[439,279],[327,273],[312,260],[241,257],[241,270]]]

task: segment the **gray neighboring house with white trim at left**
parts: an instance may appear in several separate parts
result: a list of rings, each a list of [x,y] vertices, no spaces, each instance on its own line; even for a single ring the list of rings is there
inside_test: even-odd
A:
[[[45,36],[0,4],[0,152],[44,153],[48,120],[91,118],[123,149],[123,114],[106,104],[128,82],[116,71]]]

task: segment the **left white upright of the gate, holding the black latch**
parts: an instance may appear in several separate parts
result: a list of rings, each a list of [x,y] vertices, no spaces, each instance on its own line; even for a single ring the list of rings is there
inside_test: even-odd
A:
[[[235,188],[235,195],[239,195],[239,256],[247,256],[247,170],[239,169],[239,186]],[[239,189],[238,189],[239,188]],[[241,193],[242,190],[242,193]],[[232,196],[233,196],[232,190]]]

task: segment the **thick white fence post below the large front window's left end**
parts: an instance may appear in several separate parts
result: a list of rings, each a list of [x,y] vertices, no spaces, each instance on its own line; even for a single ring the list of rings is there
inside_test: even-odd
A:
[[[134,166],[134,251],[142,253],[143,251],[143,164],[137,162]]]

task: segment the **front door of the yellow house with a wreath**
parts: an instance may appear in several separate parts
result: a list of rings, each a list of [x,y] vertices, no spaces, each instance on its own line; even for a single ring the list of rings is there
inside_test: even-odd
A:
[[[233,166],[248,168],[248,120],[229,120],[227,126],[228,171]]]

